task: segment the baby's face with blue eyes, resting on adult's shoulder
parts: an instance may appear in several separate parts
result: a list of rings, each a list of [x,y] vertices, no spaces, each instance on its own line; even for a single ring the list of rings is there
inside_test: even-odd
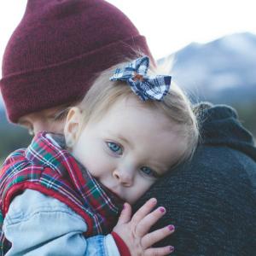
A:
[[[133,97],[90,121],[72,153],[105,187],[134,203],[183,153],[183,139],[159,111]]]

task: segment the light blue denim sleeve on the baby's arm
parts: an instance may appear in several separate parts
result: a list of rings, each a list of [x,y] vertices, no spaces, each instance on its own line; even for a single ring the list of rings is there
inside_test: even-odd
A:
[[[113,236],[84,237],[87,224],[61,201],[26,189],[12,201],[3,232],[15,255],[119,256]]]

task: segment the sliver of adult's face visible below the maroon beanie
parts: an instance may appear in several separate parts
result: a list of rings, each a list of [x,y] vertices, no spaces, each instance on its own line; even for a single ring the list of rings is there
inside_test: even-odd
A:
[[[65,117],[61,116],[64,106],[48,108],[39,112],[29,113],[19,119],[19,125],[26,127],[30,134],[38,131],[63,133]]]

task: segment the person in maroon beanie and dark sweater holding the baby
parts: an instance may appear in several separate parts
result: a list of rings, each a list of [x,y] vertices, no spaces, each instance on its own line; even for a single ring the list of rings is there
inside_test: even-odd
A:
[[[9,120],[33,132],[61,132],[65,109],[83,98],[96,73],[137,52],[153,60],[131,20],[105,1],[29,0],[3,58],[0,87]],[[166,223],[177,226],[168,241],[176,255],[256,251],[249,181],[255,180],[255,148],[236,114],[219,108],[199,108],[204,122],[195,158],[142,199],[154,196],[166,207]]]

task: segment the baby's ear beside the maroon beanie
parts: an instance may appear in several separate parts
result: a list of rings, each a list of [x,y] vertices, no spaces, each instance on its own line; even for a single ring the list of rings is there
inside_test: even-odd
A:
[[[82,129],[83,116],[79,108],[73,107],[67,113],[66,123],[64,125],[64,136],[68,148],[73,148],[77,142]]]

